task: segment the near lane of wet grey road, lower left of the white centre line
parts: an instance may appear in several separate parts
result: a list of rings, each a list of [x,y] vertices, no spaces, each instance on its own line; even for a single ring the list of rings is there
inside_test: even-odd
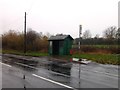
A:
[[[25,80],[23,79],[24,73],[26,74]],[[2,88],[72,88],[48,80],[11,65],[2,65]]]

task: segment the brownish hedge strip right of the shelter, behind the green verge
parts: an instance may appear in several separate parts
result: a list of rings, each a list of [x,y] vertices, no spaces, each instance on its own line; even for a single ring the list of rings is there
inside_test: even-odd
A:
[[[78,46],[73,45],[74,53],[77,53]],[[81,45],[82,53],[99,53],[99,54],[119,54],[120,45]]]

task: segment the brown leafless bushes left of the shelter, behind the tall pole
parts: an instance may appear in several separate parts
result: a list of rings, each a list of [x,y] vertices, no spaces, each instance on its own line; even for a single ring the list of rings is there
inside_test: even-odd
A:
[[[48,37],[30,29],[26,35],[27,51],[43,51],[47,52]],[[3,49],[8,50],[24,50],[24,34],[10,30],[2,35]]]

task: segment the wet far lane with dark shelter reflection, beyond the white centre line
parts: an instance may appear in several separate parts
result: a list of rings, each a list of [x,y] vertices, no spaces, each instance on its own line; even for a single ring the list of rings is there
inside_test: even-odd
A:
[[[37,75],[52,79],[54,81],[79,88],[79,64],[51,60],[48,57],[32,58],[28,60],[3,57],[3,62],[17,66],[20,69],[28,71],[29,73],[36,73]],[[80,66],[81,68],[86,68],[87,70],[81,70],[80,76],[82,78],[80,78],[80,87],[118,87],[118,81],[116,77],[109,77],[104,74],[93,72],[97,69],[99,71],[109,71],[109,69],[99,67],[99,64],[92,64],[88,65],[87,67],[85,65]],[[115,70],[113,72],[115,72]]]

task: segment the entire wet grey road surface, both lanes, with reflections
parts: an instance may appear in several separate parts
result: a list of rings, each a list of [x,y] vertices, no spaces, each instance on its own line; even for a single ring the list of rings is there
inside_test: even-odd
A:
[[[11,65],[2,65],[2,87],[118,88],[117,66],[96,63],[80,65],[79,78],[79,64],[53,62],[47,57],[27,58],[31,60],[23,62],[6,56],[2,58],[2,63]],[[26,75],[25,80],[23,74]]]

